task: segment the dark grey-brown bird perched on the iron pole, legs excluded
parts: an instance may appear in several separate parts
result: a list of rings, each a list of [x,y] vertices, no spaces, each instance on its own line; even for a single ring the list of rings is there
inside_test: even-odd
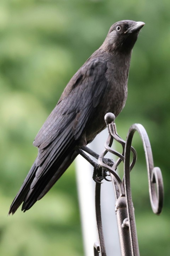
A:
[[[41,199],[86,146],[105,127],[104,115],[121,112],[127,98],[132,48],[143,22],[113,24],[96,50],[67,84],[56,107],[36,135],[38,156],[13,200],[9,214],[24,212]]]

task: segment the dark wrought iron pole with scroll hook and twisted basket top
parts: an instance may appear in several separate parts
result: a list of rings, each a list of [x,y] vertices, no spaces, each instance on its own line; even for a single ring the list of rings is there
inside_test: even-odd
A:
[[[152,210],[155,214],[160,214],[163,207],[163,179],[159,167],[154,167],[151,144],[145,128],[141,124],[133,124],[128,132],[126,141],[121,139],[117,133],[115,125],[115,116],[112,113],[107,113],[104,117],[108,128],[108,139],[104,145],[105,150],[98,158],[98,163],[103,169],[109,172],[116,197],[115,212],[117,216],[120,249],[122,256],[139,256],[136,224],[134,207],[132,203],[131,187],[130,187],[130,171],[135,165],[137,154],[135,149],[131,146],[134,133],[137,131],[140,134],[143,148],[145,151],[148,183],[149,183],[149,197]],[[122,145],[122,153],[111,148],[113,139]],[[118,160],[112,166],[106,164],[104,156],[110,152],[118,156]],[[133,159],[130,163],[130,154],[132,153]],[[124,162],[124,177],[123,180],[116,172],[120,162]],[[99,243],[94,244],[94,255],[107,256],[104,245],[104,236],[102,230],[102,219],[100,209],[100,188],[101,184],[96,183],[96,221]],[[114,254],[113,254],[114,255]]]

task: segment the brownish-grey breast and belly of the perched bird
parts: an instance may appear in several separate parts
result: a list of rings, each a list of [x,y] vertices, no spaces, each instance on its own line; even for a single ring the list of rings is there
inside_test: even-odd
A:
[[[130,56],[128,59],[114,58],[108,61],[105,74],[108,86],[100,104],[95,108],[94,117],[86,130],[87,142],[93,140],[106,127],[104,121],[106,113],[112,112],[117,117],[125,106],[128,94],[129,66]]]

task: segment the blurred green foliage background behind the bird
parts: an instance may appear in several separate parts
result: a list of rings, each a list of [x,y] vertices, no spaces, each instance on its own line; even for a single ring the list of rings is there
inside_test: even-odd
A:
[[[118,20],[144,21],[134,47],[126,106],[117,118],[125,138],[132,123],[149,135],[163,172],[160,217],[149,205],[139,136],[132,178],[141,255],[170,255],[169,1],[1,0],[0,2],[0,255],[83,255],[74,165],[26,213],[7,217],[37,149],[32,141],[64,87]]]

